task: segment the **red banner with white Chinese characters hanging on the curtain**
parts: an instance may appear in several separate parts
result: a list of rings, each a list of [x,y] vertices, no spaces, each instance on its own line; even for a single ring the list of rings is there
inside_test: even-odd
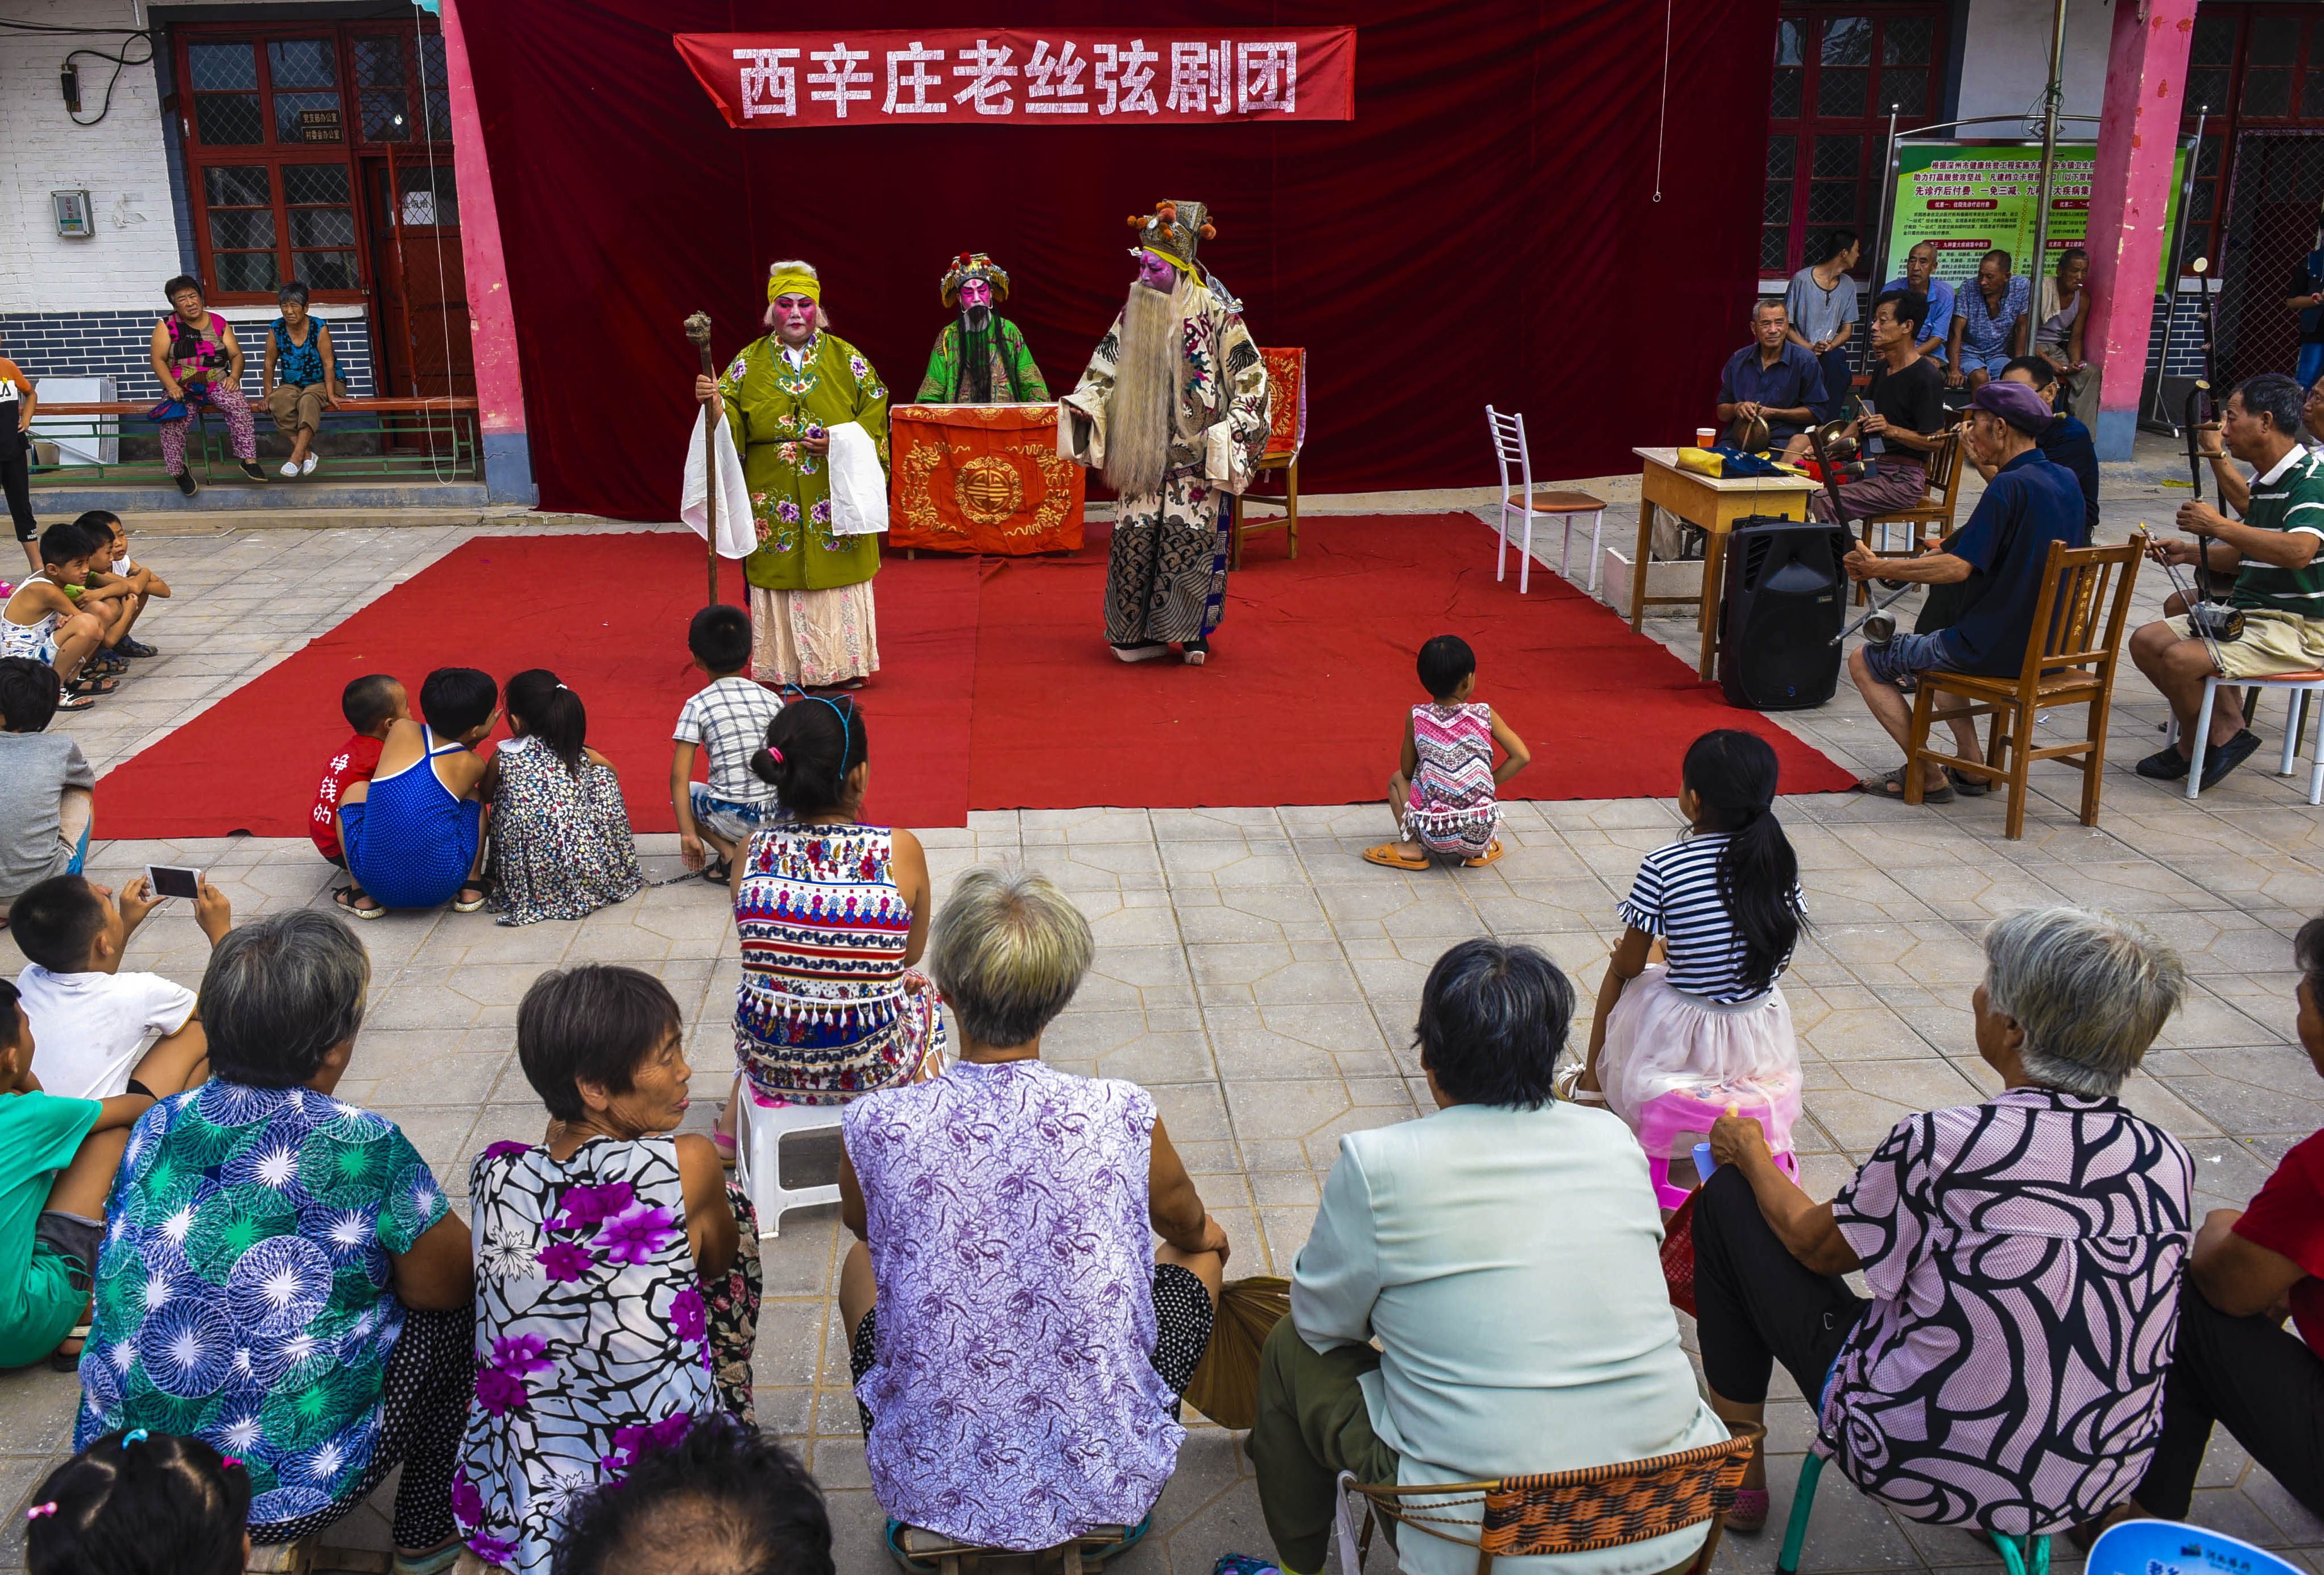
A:
[[[1355,28],[679,33],[727,125],[1355,118]]]

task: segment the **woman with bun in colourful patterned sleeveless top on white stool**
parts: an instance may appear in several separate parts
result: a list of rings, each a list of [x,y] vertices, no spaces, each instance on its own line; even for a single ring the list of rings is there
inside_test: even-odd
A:
[[[944,1013],[916,969],[927,855],[911,832],[862,822],[869,757],[851,695],[783,706],[751,757],[790,815],[734,860],[734,1059],[765,1106],[841,1106],[944,1071]],[[732,1138],[732,1103],[718,1129]]]

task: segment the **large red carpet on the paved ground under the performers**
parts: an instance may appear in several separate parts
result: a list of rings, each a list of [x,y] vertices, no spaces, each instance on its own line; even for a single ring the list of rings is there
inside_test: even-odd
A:
[[[1769,739],[1785,792],[1855,781],[1555,574],[1527,597],[1515,567],[1497,583],[1473,516],[1318,516],[1297,562],[1260,537],[1202,669],[1113,660],[1092,534],[1071,558],[881,564],[881,671],[862,695],[874,820],[1378,799],[1432,634],[1476,648],[1478,697],[1534,750],[1506,797],[1676,794],[1687,743],[1713,727]],[[632,825],[669,832],[669,725],[702,683],[686,667],[700,551],[669,532],[479,537],[109,771],[100,834],[297,836],[346,736],[339,688],[390,671],[416,699],[442,664],[555,669],[588,704]],[[479,602],[479,588],[495,590]],[[732,564],[725,590],[741,592]]]

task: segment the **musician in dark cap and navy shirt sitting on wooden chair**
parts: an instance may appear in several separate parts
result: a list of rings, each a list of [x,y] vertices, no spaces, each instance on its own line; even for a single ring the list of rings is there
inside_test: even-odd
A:
[[[2033,637],[2033,606],[2040,602],[2050,544],[2075,546],[2082,539],[2082,488],[2073,472],[2043,455],[2038,437],[2047,425],[2050,407],[2038,393],[2024,383],[1985,383],[1968,400],[1964,439],[1980,467],[1994,467],[1994,476],[1968,525],[1948,548],[1920,558],[1875,558],[1864,546],[1848,553],[1852,581],[1964,588],[1952,627],[1899,634],[1887,646],[1859,646],[1848,655],[1848,676],[1899,748],[1910,748],[1913,736],[1903,681],[1936,669],[2015,676]],[[1941,709],[1952,711],[1957,704]],[[1952,722],[1952,741],[1961,760],[1982,760],[1975,727],[1966,720]],[[1857,783],[1857,790],[1901,799],[1908,769],[1910,760]],[[1948,767],[1929,764],[1924,771],[1924,804],[1952,804],[1954,788],[1964,783],[1968,792],[1987,788],[1978,778],[1954,778]]]

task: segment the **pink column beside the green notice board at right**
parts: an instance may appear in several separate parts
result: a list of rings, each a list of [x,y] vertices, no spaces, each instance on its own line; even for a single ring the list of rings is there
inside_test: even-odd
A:
[[[2164,225],[2194,7],[2196,0],[2115,0],[2087,242],[2094,304],[2085,353],[2099,365],[2101,460],[2129,460],[2138,434],[2154,279],[2171,239]]]

